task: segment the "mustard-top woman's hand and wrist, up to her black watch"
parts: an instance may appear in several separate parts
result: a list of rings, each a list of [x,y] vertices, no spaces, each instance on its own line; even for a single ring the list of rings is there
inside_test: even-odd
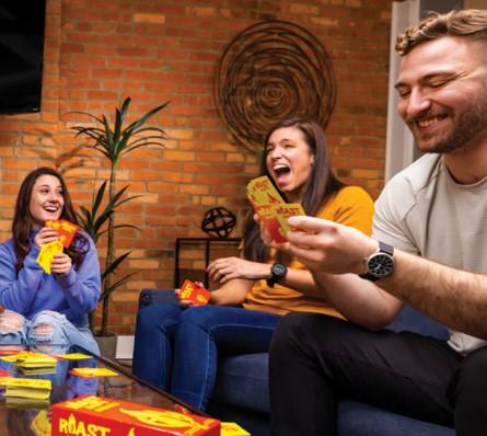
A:
[[[222,257],[211,262],[207,268],[211,282],[220,285],[234,278],[259,280],[270,277],[270,265],[245,261],[241,257]]]

